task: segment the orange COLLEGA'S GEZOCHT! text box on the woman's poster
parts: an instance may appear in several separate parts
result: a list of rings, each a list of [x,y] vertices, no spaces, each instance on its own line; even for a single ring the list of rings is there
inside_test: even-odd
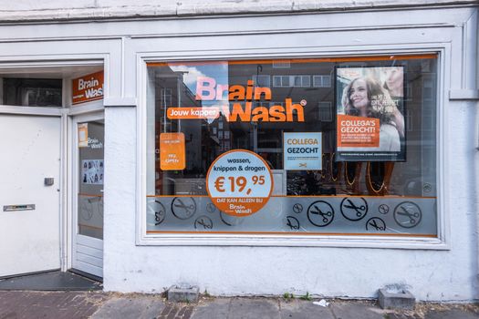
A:
[[[338,114],[339,148],[378,148],[380,119]]]

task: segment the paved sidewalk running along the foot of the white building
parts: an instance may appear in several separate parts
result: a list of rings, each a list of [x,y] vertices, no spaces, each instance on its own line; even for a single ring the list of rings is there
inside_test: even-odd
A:
[[[318,302],[318,301],[316,301]],[[374,301],[283,298],[202,298],[172,304],[161,295],[101,292],[0,291],[0,319],[478,319],[474,304],[416,305],[414,311],[382,310]]]

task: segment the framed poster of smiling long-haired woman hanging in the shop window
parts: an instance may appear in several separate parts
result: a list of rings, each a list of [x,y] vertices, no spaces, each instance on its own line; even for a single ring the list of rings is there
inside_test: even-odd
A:
[[[406,159],[404,67],[337,67],[337,160]]]

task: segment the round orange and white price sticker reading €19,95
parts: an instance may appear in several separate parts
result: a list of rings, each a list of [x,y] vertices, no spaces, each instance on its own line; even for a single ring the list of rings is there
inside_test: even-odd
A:
[[[206,190],[220,211],[249,216],[266,205],[273,191],[273,176],[259,155],[234,149],[213,161],[206,175]]]

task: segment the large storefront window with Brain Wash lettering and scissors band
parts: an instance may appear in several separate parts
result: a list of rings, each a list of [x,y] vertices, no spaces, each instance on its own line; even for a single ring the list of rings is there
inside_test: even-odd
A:
[[[147,235],[437,237],[437,55],[148,64]]]

